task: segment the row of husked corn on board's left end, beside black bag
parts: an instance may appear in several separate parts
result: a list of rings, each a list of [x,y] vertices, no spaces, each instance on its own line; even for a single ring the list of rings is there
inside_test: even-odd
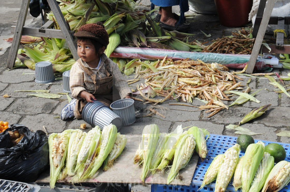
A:
[[[104,163],[104,171],[113,166],[126,146],[125,135],[115,125],[96,126],[88,133],[65,130],[49,136],[50,189],[57,180],[81,182],[92,178]]]

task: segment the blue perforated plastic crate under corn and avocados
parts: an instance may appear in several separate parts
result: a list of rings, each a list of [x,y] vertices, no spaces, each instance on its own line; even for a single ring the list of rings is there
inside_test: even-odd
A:
[[[225,136],[225,135],[214,135],[211,134],[209,139],[206,140],[206,146],[208,149],[208,156],[203,162],[198,162],[197,166],[195,168],[195,172],[192,178],[192,183],[190,186],[173,186],[173,185],[160,185],[160,184],[153,184],[151,185],[151,192],[197,192],[197,189],[200,188],[204,175],[206,173],[206,170],[208,169],[209,165],[211,164],[213,158],[217,156],[218,154],[223,154],[227,149],[229,149],[231,146],[235,145],[237,137],[232,136]],[[263,140],[255,140],[255,143],[258,141],[264,142],[265,145],[268,145],[269,143],[276,143],[276,142],[269,142],[269,141],[263,141]],[[286,151],[286,158],[285,160],[290,162],[290,144],[287,143],[278,143],[282,145]],[[243,156],[244,152],[240,152],[240,156]],[[231,181],[230,183],[233,183]],[[199,191],[202,192],[213,192],[215,189],[215,182],[212,182],[209,185],[204,186],[203,189],[200,189]],[[226,188],[226,191],[234,192],[234,187],[232,185],[228,185]],[[240,192],[240,190],[238,190]],[[290,183],[280,192],[289,192],[290,191]]]

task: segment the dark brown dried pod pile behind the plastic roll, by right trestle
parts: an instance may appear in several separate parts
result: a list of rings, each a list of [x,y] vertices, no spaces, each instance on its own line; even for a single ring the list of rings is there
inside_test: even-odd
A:
[[[250,31],[242,29],[232,32],[232,36],[213,40],[209,46],[204,47],[201,52],[205,53],[229,53],[229,54],[251,54],[255,39]]]

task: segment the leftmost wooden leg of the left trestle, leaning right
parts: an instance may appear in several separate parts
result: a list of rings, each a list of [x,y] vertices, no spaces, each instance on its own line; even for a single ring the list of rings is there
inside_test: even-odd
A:
[[[14,33],[14,36],[13,36],[11,49],[10,49],[8,61],[7,61],[7,67],[10,69],[14,67],[14,64],[15,64],[17,51],[19,48],[20,40],[21,40],[22,29],[23,29],[26,16],[27,16],[28,7],[29,7],[29,1],[22,0],[19,14],[18,14],[17,23],[16,23],[16,33]]]

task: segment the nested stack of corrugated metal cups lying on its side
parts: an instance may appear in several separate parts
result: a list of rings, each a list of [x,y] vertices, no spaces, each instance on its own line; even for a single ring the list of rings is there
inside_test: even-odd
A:
[[[100,101],[94,101],[93,103],[87,103],[81,114],[84,121],[91,126],[99,126],[103,130],[104,126],[113,124],[116,125],[117,130],[122,126],[122,118],[115,114],[110,108],[101,103]]]

